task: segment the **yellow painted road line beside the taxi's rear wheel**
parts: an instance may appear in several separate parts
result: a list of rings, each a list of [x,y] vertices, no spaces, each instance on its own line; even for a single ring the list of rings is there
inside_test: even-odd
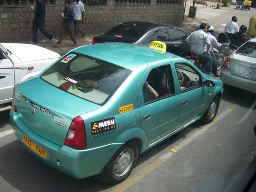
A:
[[[140,181],[145,175],[149,172],[154,171],[158,166],[163,163],[163,160],[157,159],[149,166],[146,166],[142,171],[138,172],[137,174],[130,176],[128,179],[120,183],[119,185],[115,186],[111,192],[122,192],[127,189],[129,186],[132,186],[134,183]]]

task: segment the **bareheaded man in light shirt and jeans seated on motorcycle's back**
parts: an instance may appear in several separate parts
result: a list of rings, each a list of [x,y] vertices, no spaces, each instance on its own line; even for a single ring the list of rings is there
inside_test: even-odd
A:
[[[212,56],[209,52],[211,42],[207,35],[207,24],[201,23],[198,31],[192,32],[185,39],[186,43],[190,46],[190,51],[197,54],[200,58],[206,62],[205,72],[211,73],[212,71]]]

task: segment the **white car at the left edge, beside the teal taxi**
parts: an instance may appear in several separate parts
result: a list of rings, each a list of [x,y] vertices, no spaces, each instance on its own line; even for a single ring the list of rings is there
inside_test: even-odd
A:
[[[38,75],[60,57],[36,45],[0,43],[0,112],[11,109],[16,83]]]

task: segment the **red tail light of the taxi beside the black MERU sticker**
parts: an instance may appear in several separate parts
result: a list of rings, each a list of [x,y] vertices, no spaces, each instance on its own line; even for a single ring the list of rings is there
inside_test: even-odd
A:
[[[85,126],[82,117],[78,116],[72,120],[67,132],[65,145],[80,150],[87,148]]]

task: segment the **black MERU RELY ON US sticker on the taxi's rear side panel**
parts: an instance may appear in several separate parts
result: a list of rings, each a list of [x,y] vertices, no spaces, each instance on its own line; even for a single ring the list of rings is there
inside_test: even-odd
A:
[[[92,135],[116,129],[115,117],[91,122]]]

